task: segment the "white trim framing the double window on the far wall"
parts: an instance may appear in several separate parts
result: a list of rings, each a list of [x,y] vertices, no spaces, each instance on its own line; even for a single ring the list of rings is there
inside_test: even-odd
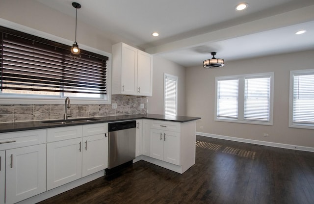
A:
[[[244,79],[247,78],[260,78],[260,77],[270,77],[270,102],[269,102],[269,121],[248,121],[244,120]],[[230,79],[240,79],[238,85],[238,118],[219,118],[217,117],[217,81],[218,80],[230,80]],[[214,102],[214,121],[220,122],[232,122],[232,123],[244,123],[244,124],[255,124],[255,125],[273,125],[273,106],[274,106],[274,73],[257,73],[257,74],[245,74],[245,75],[235,75],[235,76],[221,76],[215,77],[215,102]]]

